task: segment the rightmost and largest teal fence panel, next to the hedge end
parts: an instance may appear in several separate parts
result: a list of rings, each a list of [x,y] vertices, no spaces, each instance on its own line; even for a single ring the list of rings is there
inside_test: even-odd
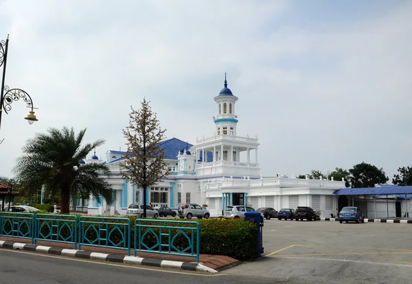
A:
[[[137,252],[196,257],[199,262],[200,229],[198,222],[135,220],[135,256]]]

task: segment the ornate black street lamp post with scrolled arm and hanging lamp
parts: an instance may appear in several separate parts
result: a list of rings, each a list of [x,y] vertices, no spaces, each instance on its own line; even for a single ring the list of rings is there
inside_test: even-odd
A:
[[[32,98],[28,93],[23,91],[21,88],[9,88],[5,86],[5,66],[7,64],[7,51],[8,51],[8,36],[7,39],[0,41],[0,67],[3,65],[3,77],[1,80],[1,90],[0,90],[0,127],[1,127],[1,115],[3,110],[5,113],[8,113],[12,109],[12,102],[23,99],[26,103],[27,108],[31,108],[29,114],[25,119],[32,124],[34,121],[37,121],[36,115],[34,115],[34,107]]]

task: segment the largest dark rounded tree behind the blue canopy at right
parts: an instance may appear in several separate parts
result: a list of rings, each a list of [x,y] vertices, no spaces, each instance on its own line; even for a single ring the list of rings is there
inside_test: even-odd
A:
[[[349,170],[351,187],[374,187],[389,180],[382,168],[362,162]]]

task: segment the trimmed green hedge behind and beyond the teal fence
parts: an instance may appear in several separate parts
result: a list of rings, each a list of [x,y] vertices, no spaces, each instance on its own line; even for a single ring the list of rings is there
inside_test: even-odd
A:
[[[78,218],[80,218],[82,215],[77,215],[77,216]],[[42,217],[45,217],[45,216],[42,216]],[[50,217],[52,217],[52,215]],[[96,217],[108,217],[108,216],[96,216]],[[134,224],[135,224],[135,220],[137,219],[137,217],[128,216],[126,218],[129,218],[131,222],[130,248],[133,249],[134,242],[135,242]],[[58,217],[58,219],[65,219],[65,215],[62,214],[61,217],[60,216]],[[139,219],[142,219],[142,218],[139,218]],[[145,219],[144,222],[141,222],[141,224],[159,225],[158,222],[150,222],[151,220],[152,219],[147,218]],[[93,218],[88,218],[88,221],[92,222]],[[95,221],[101,222],[101,219],[96,218]],[[170,220],[164,220],[164,221],[167,222]],[[200,252],[201,254],[227,255],[229,257],[234,257],[236,259],[253,259],[255,257],[258,257],[258,250],[257,250],[258,228],[255,225],[255,223],[244,221],[241,219],[240,220],[225,220],[225,219],[205,220],[204,219],[204,220],[194,220],[194,221],[198,222],[199,228],[201,231],[200,232]],[[124,220],[120,218],[118,220],[110,220],[110,222],[111,223],[125,223]],[[84,226],[87,228],[90,225],[85,224]],[[192,226],[193,227],[193,224],[190,224],[189,222],[185,222],[185,221],[179,221],[179,223],[169,223],[168,226],[179,226],[179,227],[191,227]],[[109,225],[108,232],[110,232],[112,228],[114,228],[114,225]],[[67,227],[62,228],[62,230],[60,231],[60,234],[63,235],[64,237],[69,237],[69,231],[67,230],[67,232],[65,232],[65,230],[67,230]],[[121,227],[120,227],[120,230],[122,230]],[[144,235],[144,233],[146,233],[147,230],[148,229],[144,228],[141,234]],[[153,234],[152,231],[149,230],[148,233],[144,235],[144,244],[146,244],[148,248],[152,248],[153,246],[157,246],[158,244],[156,235],[159,235],[159,228],[152,228],[152,230],[155,232],[155,234]],[[190,233],[191,230],[183,229],[183,231],[185,231],[185,233],[191,239],[191,233]],[[42,233],[43,235],[48,235],[47,226],[42,227]],[[56,233],[56,231],[53,233]],[[162,232],[162,233],[168,233],[168,232]],[[180,229],[172,229],[171,234],[172,234],[172,237],[174,237],[176,234],[179,234],[174,238],[174,241],[173,241],[173,245],[176,248],[178,248],[179,250],[184,250],[185,248],[187,248],[189,242],[187,238],[185,237],[185,235],[183,235],[180,232]],[[86,237],[90,241],[93,241],[94,239],[97,238],[97,233],[93,229],[87,230]],[[106,237],[105,233],[102,232],[101,238],[105,238],[105,237]],[[122,233],[120,233],[119,230],[114,230],[111,233],[110,240],[113,242],[113,244],[119,244],[119,242],[122,241]],[[194,242],[195,242],[194,246],[196,248],[196,236],[194,237]],[[164,237],[161,243],[168,244],[168,237]],[[153,249],[159,249],[159,248],[157,247]]]

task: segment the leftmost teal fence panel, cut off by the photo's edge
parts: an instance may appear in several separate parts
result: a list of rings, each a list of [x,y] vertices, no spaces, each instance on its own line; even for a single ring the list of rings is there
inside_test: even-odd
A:
[[[0,235],[31,239],[33,243],[35,223],[33,213],[1,212]]]

